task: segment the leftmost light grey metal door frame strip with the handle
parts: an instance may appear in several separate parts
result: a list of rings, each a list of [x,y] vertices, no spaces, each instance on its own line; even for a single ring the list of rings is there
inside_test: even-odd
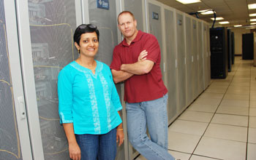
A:
[[[7,36],[7,52],[10,57],[10,76],[12,77],[13,100],[15,103],[15,113],[17,120],[18,133],[20,140],[20,151],[22,159],[32,159],[31,145],[29,138],[28,119],[21,116],[23,109],[25,109],[23,84],[20,68],[19,42],[18,42],[18,28],[15,15],[15,1],[4,0],[4,13],[6,17],[6,36]],[[9,40],[9,41],[8,41]],[[19,100],[18,100],[19,99]]]

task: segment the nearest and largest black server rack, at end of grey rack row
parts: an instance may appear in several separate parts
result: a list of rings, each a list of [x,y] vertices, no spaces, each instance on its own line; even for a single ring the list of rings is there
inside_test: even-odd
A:
[[[210,29],[211,79],[227,77],[227,28]]]

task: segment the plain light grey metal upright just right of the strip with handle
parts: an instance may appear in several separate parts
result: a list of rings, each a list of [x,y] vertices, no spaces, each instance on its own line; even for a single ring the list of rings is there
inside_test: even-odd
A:
[[[23,87],[26,100],[26,111],[29,119],[29,133],[33,159],[44,159],[42,138],[39,127],[37,97],[34,84],[34,71],[29,31],[29,5],[27,0],[16,1],[18,33],[20,44],[20,61],[23,73]]]

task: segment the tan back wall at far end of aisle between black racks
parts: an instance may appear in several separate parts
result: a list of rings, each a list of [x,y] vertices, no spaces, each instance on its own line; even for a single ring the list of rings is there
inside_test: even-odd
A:
[[[245,28],[232,28],[235,36],[235,55],[242,55],[242,34],[251,33],[249,29]]]

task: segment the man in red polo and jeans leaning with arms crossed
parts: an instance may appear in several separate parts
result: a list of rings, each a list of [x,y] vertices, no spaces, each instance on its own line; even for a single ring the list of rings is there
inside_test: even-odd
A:
[[[167,152],[167,89],[158,41],[138,31],[129,11],[118,15],[118,28],[124,40],[115,47],[110,68],[115,83],[124,81],[129,142],[148,160],[173,160]]]

